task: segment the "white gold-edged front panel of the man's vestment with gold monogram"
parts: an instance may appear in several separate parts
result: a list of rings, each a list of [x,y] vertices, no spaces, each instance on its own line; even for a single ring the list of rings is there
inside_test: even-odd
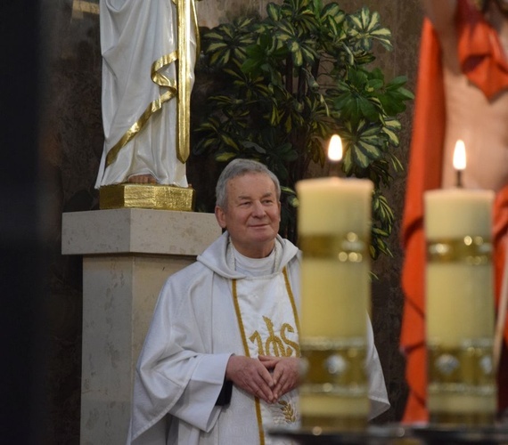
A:
[[[298,312],[285,268],[268,277],[234,279],[233,296],[246,356],[299,357]],[[258,398],[255,401],[262,445],[270,443],[266,428],[298,425],[296,390],[273,404]]]

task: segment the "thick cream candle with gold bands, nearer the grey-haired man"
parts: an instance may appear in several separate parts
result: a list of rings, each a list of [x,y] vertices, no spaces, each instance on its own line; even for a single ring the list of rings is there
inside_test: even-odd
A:
[[[364,427],[373,183],[337,177],[297,183],[301,271],[302,427]]]

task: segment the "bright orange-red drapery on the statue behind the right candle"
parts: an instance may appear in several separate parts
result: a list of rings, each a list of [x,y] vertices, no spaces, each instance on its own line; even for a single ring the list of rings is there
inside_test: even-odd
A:
[[[508,89],[508,64],[496,30],[467,2],[459,0],[458,55],[463,73],[490,100]],[[425,239],[423,193],[441,186],[446,131],[445,90],[438,36],[425,19],[420,48],[418,86],[414,110],[411,157],[406,185],[402,241],[406,252],[402,286],[406,295],[400,344],[406,353],[409,397],[404,421],[428,420],[425,350]],[[508,168],[508,166],[507,166]],[[496,299],[499,299],[508,229],[508,184],[496,195],[494,244]],[[508,342],[508,327],[504,330]],[[504,352],[505,351],[504,344]],[[508,405],[508,362],[504,353],[499,373],[499,406]]]

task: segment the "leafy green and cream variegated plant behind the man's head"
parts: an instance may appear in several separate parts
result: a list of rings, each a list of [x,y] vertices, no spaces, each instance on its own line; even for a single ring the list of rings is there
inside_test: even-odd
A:
[[[320,0],[283,0],[266,12],[203,30],[197,69],[216,81],[195,129],[195,153],[265,163],[283,185],[283,234],[296,240],[294,185],[312,162],[324,166],[324,142],[340,134],[343,174],[374,184],[371,254],[390,255],[394,214],[382,189],[403,168],[397,115],[414,95],[406,77],[387,81],[370,68],[374,43],[392,48],[389,29],[377,12],[348,14]]]

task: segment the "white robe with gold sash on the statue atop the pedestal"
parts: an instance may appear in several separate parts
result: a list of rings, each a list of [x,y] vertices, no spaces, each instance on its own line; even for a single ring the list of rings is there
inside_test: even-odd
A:
[[[105,141],[95,187],[126,182],[133,174],[187,187],[185,165],[176,158],[176,4],[101,0],[100,8]],[[196,29],[190,26],[193,68]],[[191,88],[193,80],[192,69]],[[108,154],[117,150],[108,165]]]

